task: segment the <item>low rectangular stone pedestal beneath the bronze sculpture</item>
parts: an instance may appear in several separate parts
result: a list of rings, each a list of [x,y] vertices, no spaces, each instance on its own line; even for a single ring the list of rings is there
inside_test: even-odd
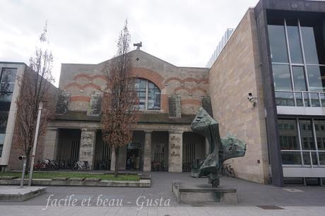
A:
[[[172,183],[172,192],[179,203],[238,203],[237,188],[232,187],[213,188],[209,184],[189,185],[176,181]]]

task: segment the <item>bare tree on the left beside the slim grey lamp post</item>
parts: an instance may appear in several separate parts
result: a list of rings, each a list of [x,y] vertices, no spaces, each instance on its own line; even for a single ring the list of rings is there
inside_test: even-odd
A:
[[[27,158],[26,172],[30,162],[30,152],[32,150],[37,112],[40,102],[43,103],[42,117],[40,121],[40,131],[37,140],[45,133],[47,119],[52,116],[50,108],[50,88],[54,79],[52,77],[52,52],[45,48],[47,44],[47,24],[40,35],[40,45],[35,48],[35,55],[30,57],[29,67],[26,67],[23,77],[18,80],[20,85],[20,95],[17,100],[16,133],[17,141]]]

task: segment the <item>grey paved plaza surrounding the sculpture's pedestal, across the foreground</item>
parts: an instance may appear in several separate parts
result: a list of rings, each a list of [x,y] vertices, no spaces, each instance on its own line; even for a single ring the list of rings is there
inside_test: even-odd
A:
[[[175,180],[208,181],[193,179],[189,173],[153,172],[150,188],[49,186],[37,198],[0,202],[0,215],[323,215],[325,211],[321,186],[278,188],[222,177],[221,186],[238,188],[239,204],[187,205],[177,203],[172,193]]]

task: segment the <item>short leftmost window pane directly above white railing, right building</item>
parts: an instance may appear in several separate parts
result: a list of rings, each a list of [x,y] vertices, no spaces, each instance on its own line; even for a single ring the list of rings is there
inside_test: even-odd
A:
[[[275,90],[293,90],[288,65],[273,64],[272,70]]]

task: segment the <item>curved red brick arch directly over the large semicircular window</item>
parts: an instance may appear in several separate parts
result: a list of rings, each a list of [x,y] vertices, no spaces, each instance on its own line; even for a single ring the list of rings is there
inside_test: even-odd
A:
[[[164,78],[162,78],[162,76],[155,71],[148,68],[132,68],[132,73],[134,77],[150,80],[152,83],[157,85],[160,91],[165,89],[165,85],[162,84]]]

